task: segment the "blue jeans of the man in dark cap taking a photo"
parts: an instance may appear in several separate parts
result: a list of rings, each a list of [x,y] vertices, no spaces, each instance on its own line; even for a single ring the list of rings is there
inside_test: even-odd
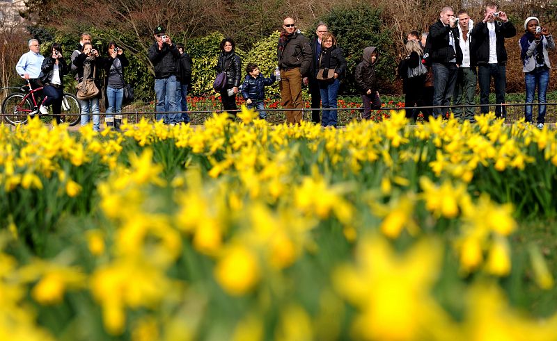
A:
[[[182,122],[182,115],[178,113],[165,113],[180,111],[178,110],[178,103],[176,103],[177,83],[176,76],[174,75],[168,78],[155,79],[155,96],[157,97],[155,111],[162,113],[155,116],[157,121],[162,119],[166,124]]]

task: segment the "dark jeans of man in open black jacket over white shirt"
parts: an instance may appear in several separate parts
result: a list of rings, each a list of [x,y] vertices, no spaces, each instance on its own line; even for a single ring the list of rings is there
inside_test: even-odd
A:
[[[489,87],[495,83],[495,103],[505,103],[505,87],[507,86],[507,72],[505,65],[483,64],[478,66],[478,83],[480,84],[480,104],[489,104]],[[489,113],[489,106],[482,106],[480,112]],[[507,117],[505,106],[495,107],[496,117]]]

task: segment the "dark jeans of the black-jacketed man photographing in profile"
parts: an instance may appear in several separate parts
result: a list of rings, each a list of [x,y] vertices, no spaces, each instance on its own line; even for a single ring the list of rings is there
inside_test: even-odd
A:
[[[457,83],[458,68],[455,63],[432,63],[433,70],[433,105],[449,106]],[[434,108],[433,117],[444,116],[448,108]]]

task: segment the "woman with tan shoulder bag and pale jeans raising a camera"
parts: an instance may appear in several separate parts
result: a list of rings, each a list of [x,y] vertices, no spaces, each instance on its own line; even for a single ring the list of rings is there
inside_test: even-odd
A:
[[[77,67],[78,82],[81,83],[86,79],[93,79],[97,89],[101,89],[101,82],[99,81],[99,74],[102,72],[102,65],[104,60],[99,55],[99,52],[93,49],[91,42],[86,42],[81,48],[81,54],[74,59],[74,65]],[[93,130],[100,130],[100,110],[99,99],[101,92],[91,99],[80,99],[81,106],[81,126],[88,124],[89,113],[93,114]],[[85,114],[85,115],[83,115]]]

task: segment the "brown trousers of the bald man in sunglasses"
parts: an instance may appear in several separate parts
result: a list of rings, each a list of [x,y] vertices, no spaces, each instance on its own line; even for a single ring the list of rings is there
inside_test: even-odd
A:
[[[299,108],[300,110],[292,110],[286,112],[286,123],[301,123],[301,74],[300,68],[295,67],[288,71],[281,70],[281,81],[278,83],[281,90],[283,106],[287,109]]]

